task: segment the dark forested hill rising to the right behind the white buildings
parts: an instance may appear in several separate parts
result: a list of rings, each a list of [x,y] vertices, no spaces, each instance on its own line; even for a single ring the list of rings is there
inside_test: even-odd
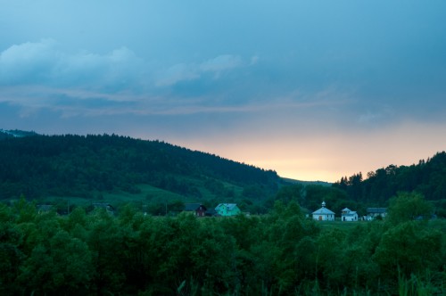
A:
[[[446,201],[446,152],[411,166],[377,169],[365,179],[361,173],[343,177],[333,186],[345,190],[352,200],[367,204],[385,205],[398,192],[417,192],[429,201]]]

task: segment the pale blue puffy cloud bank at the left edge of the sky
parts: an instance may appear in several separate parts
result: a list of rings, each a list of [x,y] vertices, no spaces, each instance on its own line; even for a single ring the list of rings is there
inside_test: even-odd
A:
[[[0,54],[0,84],[126,87],[144,77],[144,66],[126,47],[111,53],[64,53],[53,39],[12,45]]]

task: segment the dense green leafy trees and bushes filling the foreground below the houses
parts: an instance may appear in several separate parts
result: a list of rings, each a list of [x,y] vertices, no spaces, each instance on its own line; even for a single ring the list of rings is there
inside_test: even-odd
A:
[[[417,219],[420,207],[399,195],[388,219],[349,225],[305,218],[294,201],[235,218],[0,203],[0,294],[443,294],[446,224]]]

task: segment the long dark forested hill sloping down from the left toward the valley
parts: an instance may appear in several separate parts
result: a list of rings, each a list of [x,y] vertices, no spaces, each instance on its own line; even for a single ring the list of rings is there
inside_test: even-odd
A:
[[[199,183],[197,183],[200,180]],[[160,141],[124,136],[25,136],[0,140],[0,199],[136,192],[147,184],[199,197],[201,185],[253,186],[274,193],[275,171]],[[215,189],[215,188],[214,188]]]

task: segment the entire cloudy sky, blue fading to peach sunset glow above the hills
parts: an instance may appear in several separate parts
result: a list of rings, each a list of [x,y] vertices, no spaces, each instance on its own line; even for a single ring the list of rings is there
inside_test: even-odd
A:
[[[446,149],[446,1],[0,0],[0,128],[335,182]]]

